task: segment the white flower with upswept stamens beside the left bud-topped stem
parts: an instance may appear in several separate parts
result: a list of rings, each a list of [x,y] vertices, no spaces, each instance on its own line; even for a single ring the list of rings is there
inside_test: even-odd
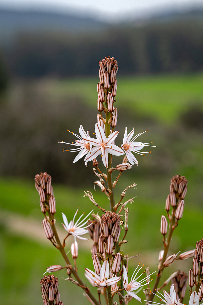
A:
[[[64,224],[63,227],[64,229],[70,234],[70,235],[73,235],[74,237],[77,237],[79,239],[85,239],[85,240],[88,240],[87,238],[84,238],[84,237],[80,237],[79,235],[83,235],[83,234],[86,234],[88,233],[88,230],[85,230],[86,228],[88,228],[91,224],[89,224],[88,226],[86,227],[83,227],[88,221],[86,220],[86,218],[89,216],[89,214],[92,213],[93,210],[91,210],[91,212],[85,217],[83,218],[82,221],[80,221],[81,217],[84,215],[84,213],[82,213],[82,215],[78,218],[78,220],[76,221],[76,223],[74,224],[74,220],[75,220],[75,216],[77,215],[78,213],[78,210],[75,212],[75,215],[73,217],[73,220],[70,221],[70,223],[68,224],[68,220],[67,220],[67,217],[65,216],[64,213],[62,213],[63,215],[63,221],[64,221]],[[86,220],[86,221],[85,221]],[[80,222],[79,222],[80,221]],[[85,221],[85,222],[84,222]],[[82,228],[83,227],[83,228]]]

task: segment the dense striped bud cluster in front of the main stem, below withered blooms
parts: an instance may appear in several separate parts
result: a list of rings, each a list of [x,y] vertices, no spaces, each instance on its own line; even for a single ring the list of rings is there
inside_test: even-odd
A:
[[[107,254],[113,253],[114,244],[118,242],[121,227],[119,225],[121,217],[115,212],[106,212],[100,217],[100,237],[99,237],[99,252],[104,253],[106,248]]]

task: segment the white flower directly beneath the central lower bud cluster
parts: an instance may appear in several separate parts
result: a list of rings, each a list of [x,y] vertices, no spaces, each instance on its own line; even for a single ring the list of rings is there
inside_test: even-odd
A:
[[[85,276],[89,280],[89,282],[92,285],[95,285],[96,287],[106,287],[113,285],[120,281],[121,277],[120,276],[115,276],[114,278],[109,278],[110,276],[110,270],[109,270],[109,263],[107,260],[103,262],[103,265],[100,270],[100,274],[96,274],[95,272],[89,270],[88,268],[85,268]],[[94,283],[93,283],[94,281]]]

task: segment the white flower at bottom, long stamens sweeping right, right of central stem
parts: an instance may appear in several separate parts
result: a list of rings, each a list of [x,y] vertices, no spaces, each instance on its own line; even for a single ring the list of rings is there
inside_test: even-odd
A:
[[[140,266],[140,264],[138,265],[138,267]],[[142,267],[143,267],[144,265],[142,265]],[[137,267],[137,268],[138,268]],[[140,269],[142,269],[142,267],[140,268]],[[135,269],[135,271],[137,270],[137,268]],[[151,280],[148,282],[148,283],[145,283],[145,284],[143,284],[143,285],[141,285],[142,283],[144,283],[144,282],[146,282],[146,280],[148,279],[148,278],[150,278],[150,275],[151,274],[153,274],[153,273],[151,273],[151,274],[149,274],[148,276],[146,276],[145,278],[143,278],[142,280],[140,280],[139,282],[137,282],[136,280],[143,274],[141,274],[141,275],[139,275],[137,278],[136,278],[136,275],[138,274],[138,272],[140,271],[140,269],[138,269],[138,271],[136,272],[136,274],[135,274],[135,271],[133,272],[133,275],[135,274],[135,276],[133,277],[133,275],[132,275],[132,277],[131,277],[131,281],[130,281],[130,284],[128,284],[128,274],[127,274],[127,271],[126,271],[126,268],[125,268],[125,266],[123,266],[123,287],[124,287],[124,289],[125,289],[125,291],[126,292],[128,292],[128,294],[130,295],[130,296],[132,296],[133,298],[135,298],[136,300],[138,300],[138,301],[140,301],[140,303],[142,303],[141,301],[141,299],[140,299],[140,297],[139,296],[137,296],[134,292],[132,292],[133,290],[137,290],[138,288],[140,288],[141,286],[144,286],[144,285],[147,285],[147,284],[149,284],[149,282],[151,282]],[[156,272],[156,271],[155,271]]]

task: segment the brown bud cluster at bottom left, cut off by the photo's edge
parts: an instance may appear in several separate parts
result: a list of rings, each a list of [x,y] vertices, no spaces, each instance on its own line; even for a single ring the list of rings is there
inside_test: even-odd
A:
[[[53,274],[48,276],[44,275],[40,284],[42,286],[43,305],[63,305],[63,302],[60,301],[60,293],[58,291],[58,278],[55,278]]]

